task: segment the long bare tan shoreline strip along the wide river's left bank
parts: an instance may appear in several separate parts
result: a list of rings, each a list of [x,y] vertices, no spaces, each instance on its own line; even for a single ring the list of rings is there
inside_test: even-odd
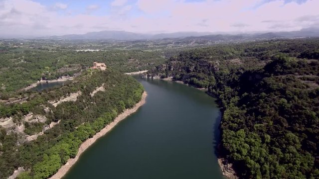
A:
[[[66,164],[64,164],[58,171],[55,173],[52,177],[49,179],[61,179],[62,177],[65,176],[65,174],[71,169],[71,167],[78,161],[79,157],[81,154],[88,149],[92,144],[96,142],[99,138],[103,137],[105,134],[107,134],[110,130],[113,129],[120,121],[128,117],[129,115],[133,114],[136,112],[143,104],[146,102],[146,97],[147,97],[147,92],[144,91],[142,94],[141,100],[135,104],[134,107],[130,109],[125,109],[121,114],[119,114],[113,122],[110,124],[106,125],[100,132],[97,132],[92,138],[87,139],[84,141],[80,147],[77,155],[75,158],[69,159]]]

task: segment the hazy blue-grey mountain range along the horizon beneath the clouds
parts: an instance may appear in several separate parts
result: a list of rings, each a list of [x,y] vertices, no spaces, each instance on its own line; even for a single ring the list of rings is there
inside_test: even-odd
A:
[[[273,38],[294,38],[294,37],[319,37],[318,28],[302,29],[291,32],[268,32],[252,34],[213,34],[211,32],[174,32],[159,34],[144,34],[127,31],[99,31],[86,34],[70,34],[61,36],[41,37],[40,39],[65,39],[65,40],[147,40],[147,39],[166,39],[166,38],[196,38],[211,41],[232,41],[232,40],[255,40]]]

